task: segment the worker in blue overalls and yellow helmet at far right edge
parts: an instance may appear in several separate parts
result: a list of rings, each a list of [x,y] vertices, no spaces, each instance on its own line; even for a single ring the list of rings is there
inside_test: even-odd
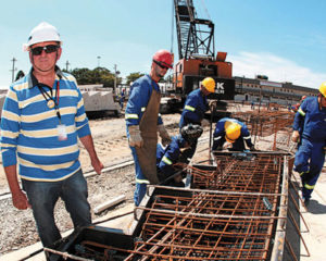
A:
[[[304,203],[310,202],[325,161],[326,147],[326,82],[319,87],[317,97],[303,100],[294,116],[292,141],[301,135],[301,146],[294,159],[294,171],[300,174]]]

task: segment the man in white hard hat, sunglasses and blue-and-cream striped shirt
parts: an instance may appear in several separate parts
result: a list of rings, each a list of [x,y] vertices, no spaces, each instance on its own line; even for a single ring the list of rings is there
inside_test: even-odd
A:
[[[14,207],[33,209],[41,243],[51,246],[61,238],[53,217],[59,198],[65,202],[75,228],[91,224],[77,139],[97,173],[103,164],[93,147],[77,83],[55,65],[62,52],[57,28],[40,23],[30,32],[24,49],[32,70],[8,91],[1,153]],[[25,192],[18,185],[17,164]]]

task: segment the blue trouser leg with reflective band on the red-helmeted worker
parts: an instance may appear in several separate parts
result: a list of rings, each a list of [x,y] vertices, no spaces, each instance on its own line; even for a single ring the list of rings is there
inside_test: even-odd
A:
[[[145,197],[148,179],[143,176],[139,165],[137,152],[135,147],[129,147],[134,157],[135,162],[135,174],[136,174],[136,189],[134,192],[134,202],[139,206],[140,201]]]

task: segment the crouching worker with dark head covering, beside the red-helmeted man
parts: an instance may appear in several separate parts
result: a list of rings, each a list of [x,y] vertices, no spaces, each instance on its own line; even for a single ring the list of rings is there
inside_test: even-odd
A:
[[[164,148],[158,144],[156,169],[162,185],[184,187],[183,169],[190,159],[184,156],[185,150],[197,142],[203,129],[200,125],[186,125],[181,128],[181,135],[172,137],[172,141]],[[177,174],[179,173],[179,174]]]

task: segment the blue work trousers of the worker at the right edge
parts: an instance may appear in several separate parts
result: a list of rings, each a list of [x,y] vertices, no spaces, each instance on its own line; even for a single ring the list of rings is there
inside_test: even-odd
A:
[[[302,182],[302,197],[310,199],[322,172],[325,154],[324,142],[312,142],[302,138],[294,159],[294,171],[299,172]]]

